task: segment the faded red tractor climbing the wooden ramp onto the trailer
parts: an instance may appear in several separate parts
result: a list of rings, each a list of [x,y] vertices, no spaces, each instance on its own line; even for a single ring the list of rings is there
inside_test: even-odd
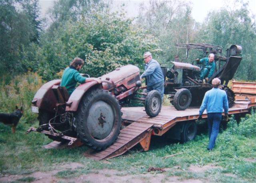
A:
[[[60,80],[44,84],[32,100],[32,111],[38,113],[38,131],[56,141],[76,139],[93,149],[105,149],[117,138],[122,121],[121,105],[134,99],[141,86],[140,70],[127,65],[100,77],[96,81],[80,84],[69,96]],[[141,93],[145,111],[151,117],[158,115],[162,99],[153,90]],[[138,97],[137,97],[138,99]]]

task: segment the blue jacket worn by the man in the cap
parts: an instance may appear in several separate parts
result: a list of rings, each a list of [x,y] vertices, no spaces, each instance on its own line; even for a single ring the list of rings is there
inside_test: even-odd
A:
[[[164,82],[164,75],[160,64],[154,59],[145,64],[145,72],[140,77],[147,79],[147,86]]]

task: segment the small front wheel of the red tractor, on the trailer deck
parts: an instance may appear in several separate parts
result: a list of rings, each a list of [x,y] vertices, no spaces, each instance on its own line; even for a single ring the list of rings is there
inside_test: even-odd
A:
[[[148,92],[145,101],[145,111],[150,117],[157,116],[162,107],[162,97],[157,90]]]

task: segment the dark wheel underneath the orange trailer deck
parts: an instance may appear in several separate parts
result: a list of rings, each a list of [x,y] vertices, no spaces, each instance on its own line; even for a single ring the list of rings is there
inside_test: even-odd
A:
[[[187,141],[191,141],[196,137],[196,133],[197,133],[197,126],[196,126],[196,122],[193,121],[188,121],[184,124],[184,128],[183,131],[181,133],[181,142],[187,142]]]

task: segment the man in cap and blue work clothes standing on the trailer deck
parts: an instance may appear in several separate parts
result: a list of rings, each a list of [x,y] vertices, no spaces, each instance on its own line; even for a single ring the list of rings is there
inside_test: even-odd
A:
[[[140,76],[140,79],[146,78],[147,92],[157,90],[161,97],[164,97],[164,75],[160,64],[152,59],[150,52],[145,52],[143,55],[145,62],[145,72]]]

